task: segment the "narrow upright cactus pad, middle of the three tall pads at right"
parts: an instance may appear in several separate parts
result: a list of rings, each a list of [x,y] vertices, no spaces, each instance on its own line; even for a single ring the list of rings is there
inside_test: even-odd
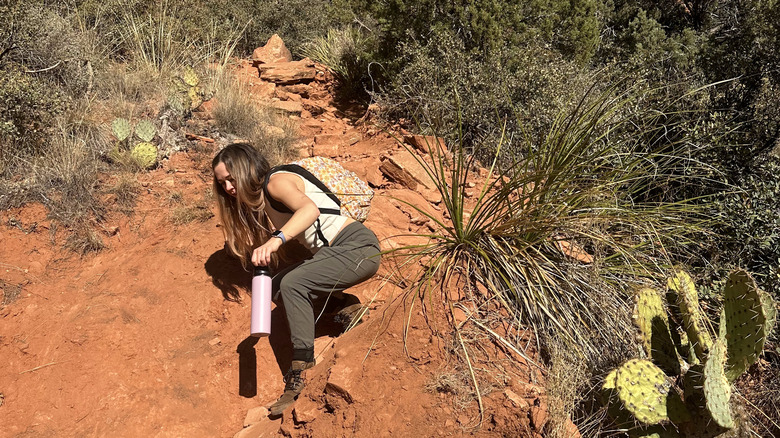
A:
[[[699,307],[696,285],[685,271],[678,270],[669,278],[668,286],[677,295],[677,305],[688,340],[693,345],[696,356],[703,361],[712,345],[712,337]]]

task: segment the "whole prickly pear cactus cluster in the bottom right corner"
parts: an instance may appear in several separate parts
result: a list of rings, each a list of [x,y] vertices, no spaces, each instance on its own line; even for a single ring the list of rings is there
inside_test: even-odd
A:
[[[736,426],[730,407],[731,383],[761,354],[774,327],[775,303],[747,272],[732,272],[714,336],[690,276],[677,271],[667,284],[668,308],[679,314],[671,312],[670,318],[654,290],[636,292],[633,318],[649,359],[631,359],[610,372],[602,394],[618,424],[630,424],[632,419],[639,424],[631,436],[678,436],[679,427],[685,436],[715,437]],[[679,323],[684,333],[675,336],[670,322]],[[694,350],[691,354],[687,354],[686,338]],[[667,343],[676,345],[668,347]],[[687,356],[688,363],[681,361],[677,351]],[[626,414],[630,414],[628,420]]]

